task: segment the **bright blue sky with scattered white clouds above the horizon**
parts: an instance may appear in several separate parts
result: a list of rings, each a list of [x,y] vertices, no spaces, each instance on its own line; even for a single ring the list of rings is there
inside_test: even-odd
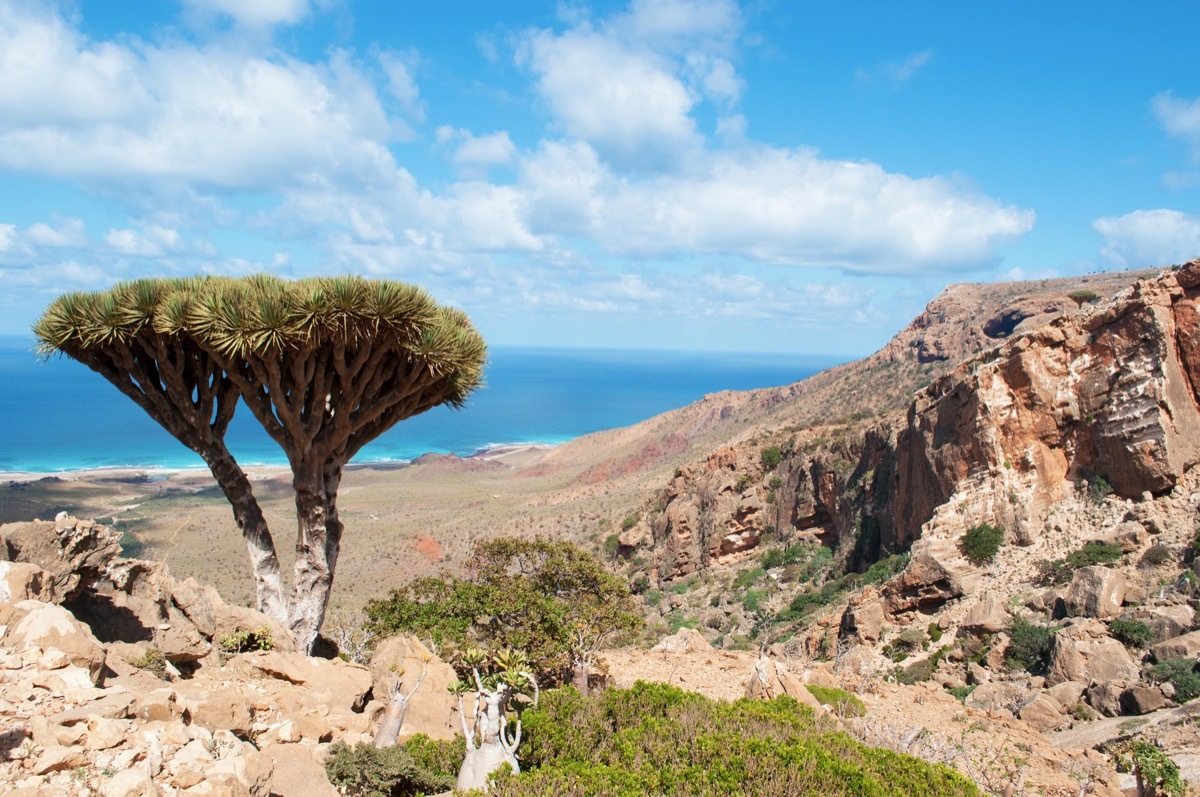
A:
[[[498,344],[865,354],[1200,256],[1187,2],[0,0],[0,334],[144,275],[415,282]]]

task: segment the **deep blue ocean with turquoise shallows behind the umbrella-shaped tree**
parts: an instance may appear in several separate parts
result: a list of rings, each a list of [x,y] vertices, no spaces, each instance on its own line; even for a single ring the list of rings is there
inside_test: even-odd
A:
[[[200,459],[98,374],[38,360],[34,341],[0,336],[0,472],[196,468]],[[492,347],[485,386],[462,409],[401,421],[354,462],[467,456],[506,444],[557,444],[629,426],[718,390],[790,384],[842,360],[815,355]],[[284,465],[241,407],[227,437],[242,465]]]

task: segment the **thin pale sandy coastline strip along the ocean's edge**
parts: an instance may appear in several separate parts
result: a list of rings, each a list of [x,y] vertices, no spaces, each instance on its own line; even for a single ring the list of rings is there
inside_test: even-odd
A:
[[[487,462],[503,462],[506,465],[522,465],[535,455],[544,454],[560,444],[552,443],[497,443],[479,449],[462,460],[482,460]],[[456,454],[442,454],[431,451],[436,456],[458,456]],[[422,456],[427,456],[422,455]],[[420,459],[420,457],[416,457]],[[349,462],[347,471],[398,471],[412,465],[415,460],[367,460],[364,462]],[[287,465],[251,465],[245,468],[251,481],[266,481],[287,475],[292,471]],[[109,483],[155,483],[155,481],[191,481],[210,480],[212,474],[202,466],[172,468],[158,465],[148,466],[100,466],[95,468],[74,468],[67,471],[0,471],[0,485],[24,484],[41,481],[42,479],[58,479],[60,481],[109,481]]]

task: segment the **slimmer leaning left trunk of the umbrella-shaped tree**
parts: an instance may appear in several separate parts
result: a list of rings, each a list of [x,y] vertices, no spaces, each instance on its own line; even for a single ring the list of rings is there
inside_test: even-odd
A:
[[[241,529],[250,553],[250,567],[254,573],[258,611],[288,624],[288,606],[283,595],[283,579],[280,575],[280,558],[275,552],[275,540],[266,527],[263,509],[254,498],[250,479],[228,451],[200,451],[209,471],[217,480],[221,492],[233,507],[233,516]]]

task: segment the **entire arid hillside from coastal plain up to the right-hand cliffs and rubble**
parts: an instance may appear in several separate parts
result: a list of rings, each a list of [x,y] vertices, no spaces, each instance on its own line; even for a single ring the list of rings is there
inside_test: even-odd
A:
[[[952,286],[880,352],[792,385],[553,449],[352,469],[335,624],[462,567],[480,537],[566,538],[611,552],[652,636],[707,640],[698,663],[610,652],[618,684],[739,694],[760,649],[858,694],[869,719],[840,719],[859,738],[990,778],[990,793],[1114,793],[1109,765],[1145,739],[1195,778],[1198,322],[1200,262]],[[289,526],[287,475],[254,484]],[[203,475],[0,490],[0,521],[59,510],[250,598]],[[979,727],[1009,741],[990,774]]]

